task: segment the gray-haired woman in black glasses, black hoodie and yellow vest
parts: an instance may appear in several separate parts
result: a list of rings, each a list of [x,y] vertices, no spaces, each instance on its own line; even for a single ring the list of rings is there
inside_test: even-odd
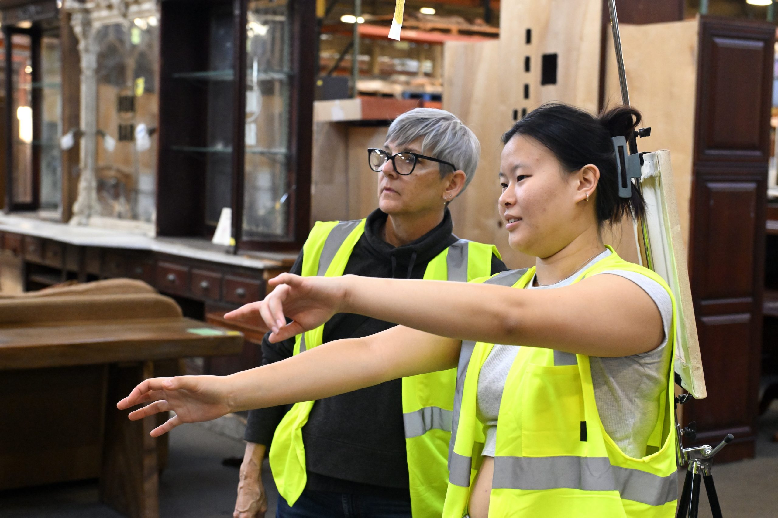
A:
[[[317,222],[292,273],[467,281],[503,271],[493,246],[451,233],[447,205],[475,175],[479,153],[475,134],[447,111],[398,116],[384,148],[368,150],[378,208],[362,221]],[[335,315],[296,339],[265,337],[263,364],[391,326]],[[440,516],[454,378],[447,370],[251,411],[233,516],[265,515],[261,465],[268,447],[281,495],[277,516]]]

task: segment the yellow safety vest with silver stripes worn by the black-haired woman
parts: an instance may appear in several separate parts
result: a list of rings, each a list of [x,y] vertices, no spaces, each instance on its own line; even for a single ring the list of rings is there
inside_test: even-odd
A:
[[[610,249],[610,247],[608,247]],[[668,291],[661,276],[613,252],[574,282],[608,270],[641,273]],[[489,280],[527,287],[534,268]],[[494,344],[463,342],[443,516],[461,518],[481,464],[484,425],[476,413],[478,374]],[[671,518],[678,499],[673,378],[660,396],[660,412],[643,458],[628,457],[608,436],[594,399],[589,356],[521,347],[510,368],[499,407],[489,516],[506,518]]]

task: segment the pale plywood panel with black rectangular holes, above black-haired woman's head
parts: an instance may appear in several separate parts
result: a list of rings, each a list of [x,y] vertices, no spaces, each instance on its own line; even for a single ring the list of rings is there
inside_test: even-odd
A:
[[[597,110],[601,0],[514,0],[503,2],[499,17],[500,123],[550,101]],[[541,84],[544,55],[556,56],[555,83]]]

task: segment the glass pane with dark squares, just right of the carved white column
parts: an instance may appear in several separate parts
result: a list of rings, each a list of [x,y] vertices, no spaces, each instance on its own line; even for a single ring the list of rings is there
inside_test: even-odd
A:
[[[159,30],[156,16],[96,30],[100,215],[154,221]]]

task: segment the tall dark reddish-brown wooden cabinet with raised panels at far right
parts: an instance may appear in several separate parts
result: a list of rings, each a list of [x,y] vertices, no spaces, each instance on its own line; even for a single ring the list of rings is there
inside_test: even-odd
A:
[[[700,24],[689,273],[708,397],[684,420],[696,443],[732,433],[725,461],[756,440],[774,40],[772,24]]]

